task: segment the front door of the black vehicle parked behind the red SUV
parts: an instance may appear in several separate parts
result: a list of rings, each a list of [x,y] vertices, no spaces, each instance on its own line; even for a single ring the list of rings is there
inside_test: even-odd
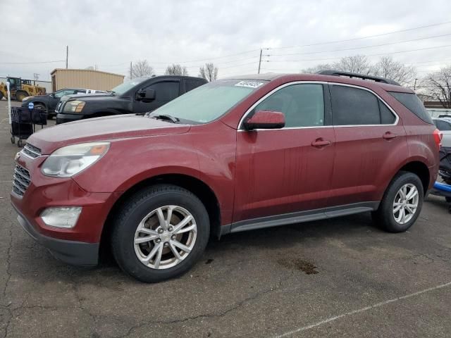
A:
[[[152,88],[155,90],[155,99],[152,102],[138,101],[136,96],[133,102],[133,113],[147,113],[154,111],[156,108],[167,104],[180,95],[180,80],[170,79],[154,82],[146,88]]]

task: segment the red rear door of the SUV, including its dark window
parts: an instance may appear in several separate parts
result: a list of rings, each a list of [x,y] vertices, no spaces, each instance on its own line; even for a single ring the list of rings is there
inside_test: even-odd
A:
[[[408,156],[402,121],[369,89],[329,89],[336,137],[330,205],[379,201],[399,158]]]

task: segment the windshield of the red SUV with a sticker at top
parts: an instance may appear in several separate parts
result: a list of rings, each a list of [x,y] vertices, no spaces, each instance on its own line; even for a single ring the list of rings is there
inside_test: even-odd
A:
[[[263,80],[217,80],[183,94],[153,111],[152,115],[170,115],[182,121],[209,123],[265,83]]]

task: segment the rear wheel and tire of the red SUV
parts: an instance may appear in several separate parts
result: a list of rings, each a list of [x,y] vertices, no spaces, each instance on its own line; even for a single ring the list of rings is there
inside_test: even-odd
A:
[[[414,194],[415,189],[416,195],[411,199],[408,199],[407,202],[404,202],[404,200],[402,200],[402,193],[400,192],[402,187],[407,187],[405,190],[407,192],[407,197],[409,197],[409,193],[412,192],[412,190],[412,194]],[[397,199],[397,201],[395,201],[395,199]],[[421,207],[423,206],[423,200],[424,189],[419,177],[414,173],[400,171],[400,173],[397,173],[393,178],[392,182],[390,182],[387,190],[385,190],[385,194],[378,210],[372,213],[373,219],[376,224],[381,226],[385,231],[406,231],[418,218]],[[401,205],[395,206],[395,202]],[[416,208],[412,208],[415,204]],[[395,209],[398,207],[400,208],[395,212]],[[402,209],[404,210],[404,221],[402,218]],[[413,213],[410,211],[413,211]]]

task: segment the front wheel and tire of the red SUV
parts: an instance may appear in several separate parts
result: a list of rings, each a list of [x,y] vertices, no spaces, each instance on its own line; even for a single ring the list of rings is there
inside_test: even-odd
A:
[[[166,223],[159,221],[158,210],[166,219],[168,208],[173,208],[172,217],[163,230],[162,224]],[[177,230],[182,232],[176,232],[176,225],[188,219],[190,221]],[[189,228],[197,231],[185,231]],[[111,248],[116,262],[125,273],[142,282],[161,282],[182,275],[199,260],[209,232],[209,215],[197,196],[175,185],[158,184],[132,195],[122,206],[113,224]],[[135,241],[141,239],[145,242],[136,244]],[[174,243],[189,247],[190,252],[179,249]],[[178,252],[179,257],[173,250]]]

